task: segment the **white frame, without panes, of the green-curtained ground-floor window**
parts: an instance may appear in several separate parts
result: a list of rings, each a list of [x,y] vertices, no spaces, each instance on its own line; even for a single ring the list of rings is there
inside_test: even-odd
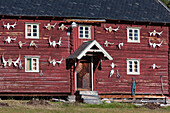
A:
[[[39,58],[40,56],[25,56],[25,72],[39,72]],[[31,59],[31,68],[33,68],[33,59],[36,59],[36,70],[27,70],[27,59]]]

